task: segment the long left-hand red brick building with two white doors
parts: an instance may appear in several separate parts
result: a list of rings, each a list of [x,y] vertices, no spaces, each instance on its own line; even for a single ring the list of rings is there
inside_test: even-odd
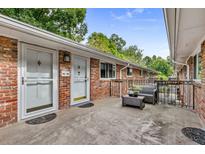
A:
[[[147,72],[157,73],[0,15],[0,127],[109,97],[111,79]]]

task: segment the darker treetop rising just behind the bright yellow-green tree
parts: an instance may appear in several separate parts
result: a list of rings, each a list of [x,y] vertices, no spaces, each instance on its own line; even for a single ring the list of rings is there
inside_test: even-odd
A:
[[[122,48],[126,45],[126,41],[119,37],[117,34],[112,34],[110,41],[115,44],[118,51],[121,51]]]

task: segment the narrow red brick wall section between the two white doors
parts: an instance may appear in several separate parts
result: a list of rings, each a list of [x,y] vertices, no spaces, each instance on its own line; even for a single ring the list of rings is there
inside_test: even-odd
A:
[[[59,51],[59,109],[68,108],[70,105],[71,78],[61,76],[62,70],[71,71],[71,62],[64,62],[66,51]]]

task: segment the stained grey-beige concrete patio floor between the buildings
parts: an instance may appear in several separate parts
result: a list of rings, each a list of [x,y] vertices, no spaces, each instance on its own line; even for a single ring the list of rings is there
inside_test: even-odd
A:
[[[45,124],[1,128],[0,144],[196,144],[181,129],[203,127],[197,114],[173,106],[146,104],[139,110],[122,107],[119,98],[94,103],[59,111]]]

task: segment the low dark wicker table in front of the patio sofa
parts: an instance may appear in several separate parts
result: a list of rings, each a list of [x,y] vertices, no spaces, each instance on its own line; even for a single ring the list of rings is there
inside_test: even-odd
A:
[[[139,107],[141,110],[145,107],[144,96],[130,97],[129,95],[122,96],[122,106],[131,105]]]

